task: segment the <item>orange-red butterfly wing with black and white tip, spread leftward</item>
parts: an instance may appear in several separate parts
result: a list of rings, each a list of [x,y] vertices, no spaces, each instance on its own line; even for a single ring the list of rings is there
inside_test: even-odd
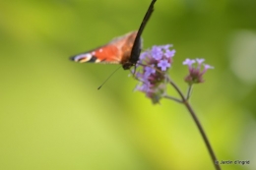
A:
[[[123,64],[129,60],[137,31],[126,33],[106,45],[71,57],[72,61],[85,63]]]

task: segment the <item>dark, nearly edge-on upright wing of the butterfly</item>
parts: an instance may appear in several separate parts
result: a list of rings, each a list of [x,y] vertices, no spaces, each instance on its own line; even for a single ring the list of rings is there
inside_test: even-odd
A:
[[[140,56],[140,53],[141,53],[141,34],[142,34],[147,22],[151,18],[151,15],[154,11],[154,4],[155,4],[156,1],[157,0],[153,0],[151,2],[151,5],[148,8],[148,11],[147,11],[146,15],[144,16],[142,24],[141,24],[141,26],[138,30],[137,36],[134,40],[134,44],[133,44],[132,51],[131,51],[131,57],[130,57],[130,60],[129,60],[133,64],[137,63],[137,61],[139,60],[139,56]]]

